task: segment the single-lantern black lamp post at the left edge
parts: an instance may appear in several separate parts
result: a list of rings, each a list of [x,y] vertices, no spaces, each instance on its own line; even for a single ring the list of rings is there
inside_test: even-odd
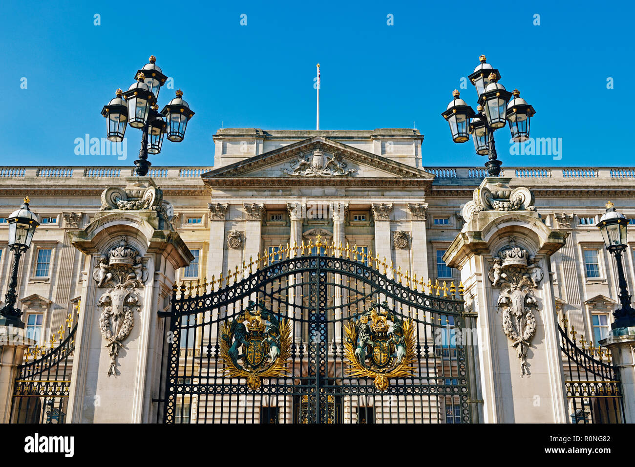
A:
[[[24,328],[24,323],[20,319],[22,311],[15,308],[18,294],[18,267],[20,257],[29,250],[33,233],[39,226],[37,215],[29,210],[29,198],[24,198],[24,203],[20,209],[14,211],[6,220],[9,224],[9,248],[13,251],[13,261],[11,262],[11,278],[9,288],[4,297],[4,306],[0,308],[0,325]]]

